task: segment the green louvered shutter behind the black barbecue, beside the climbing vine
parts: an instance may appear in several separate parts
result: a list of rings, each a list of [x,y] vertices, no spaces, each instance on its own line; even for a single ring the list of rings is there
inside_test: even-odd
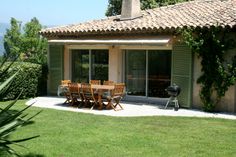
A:
[[[181,107],[191,107],[192,104],[192,52],[187,45],[177,44],[172,51],[172,84],[180,86],[178,96]]]

